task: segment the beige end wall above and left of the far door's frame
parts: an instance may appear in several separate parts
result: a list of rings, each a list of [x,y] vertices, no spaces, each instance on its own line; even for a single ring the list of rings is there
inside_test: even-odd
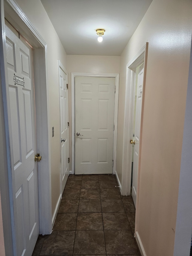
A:
[[[119,74],[119,56],[67,55],[69,83],[69,122],[70,122],[70,159],[71,159],[71,72]],[[71,161],[70,161],[71,170]]]

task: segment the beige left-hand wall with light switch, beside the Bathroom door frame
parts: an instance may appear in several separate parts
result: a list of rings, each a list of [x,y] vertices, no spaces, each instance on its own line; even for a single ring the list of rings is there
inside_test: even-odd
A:
[[[50,22],[40,0],[16,0],[19,7],[35,26],[47,43],[50,128],[54,126],[55,136],[51,136],[51,191],[52,216],[60,195],[60,123],[58,59],[67,68],[64,48]],[[43,156],[42,156],[43,157]]]

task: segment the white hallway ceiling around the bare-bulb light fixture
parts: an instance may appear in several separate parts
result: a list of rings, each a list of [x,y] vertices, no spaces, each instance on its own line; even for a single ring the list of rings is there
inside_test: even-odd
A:
[[[68,55],[120,56],[152,0],[41,0]],[[97,41],[95,29],[106,30]]]

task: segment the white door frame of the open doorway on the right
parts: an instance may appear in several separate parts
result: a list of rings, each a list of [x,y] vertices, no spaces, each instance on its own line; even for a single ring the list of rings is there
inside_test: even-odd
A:
[[[132,145],[129,141],[133,138],[133,121],[134,121],[134,96],[136,83],[136,68],[144,62],[143,76],[143,98],[142,108],[145,96],[145,77],[147,65],[148,43],[137,53],[137,55],[127,64],[126,88],[125,88],[125,114],[124,114],[124,133],[123,133],[123,164],[122,164],[122,195],[128,196],[131,194],[131,165],[132,165]],[[141,129],[142,129],[141,114]],[[140,137],[140,142],[141,142]],[[140,143],[141,148],[141,143]],[[140,161],[139,161],[140,167]],[[139,170],[138,170],[139,177]],[[137,190],[139,188],[139,182]],[[137,193],[138,194],[138,193]],[[138,201],[138,200],[137,200]]]

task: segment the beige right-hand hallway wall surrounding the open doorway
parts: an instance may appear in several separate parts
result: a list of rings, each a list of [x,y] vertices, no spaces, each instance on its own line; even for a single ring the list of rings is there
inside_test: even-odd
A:
[[[173,255],[191,14],[191,1],[154,0],[120,60],[117,170],[121,177],[126,64],[149,42],[136,212],[136,230],[147,256]]]

